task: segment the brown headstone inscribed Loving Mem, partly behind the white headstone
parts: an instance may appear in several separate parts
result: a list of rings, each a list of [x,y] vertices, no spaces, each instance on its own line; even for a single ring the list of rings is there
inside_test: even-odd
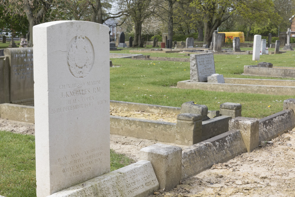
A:
[[[13,104],[34,102],[33,48],[6,48],[10,65],[10,102]]]

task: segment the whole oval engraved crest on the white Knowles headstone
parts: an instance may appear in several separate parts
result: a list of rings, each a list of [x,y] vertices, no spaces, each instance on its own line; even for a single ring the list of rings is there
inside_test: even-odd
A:
[[[87,76],[93,62],[94,50],[90,40],[84,35],[73,38],[68,49],[68,66],[71,74],[77,78]]]

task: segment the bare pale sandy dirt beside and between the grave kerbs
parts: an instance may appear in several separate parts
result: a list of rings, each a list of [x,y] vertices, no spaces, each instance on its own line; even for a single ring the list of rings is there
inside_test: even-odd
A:
[[[141,113],[135,114],[140,115]],[[115,115],[115,113],[113,112],[112,115]],[[121,115],[134,117],[127,113],[121,113]],[[149,116],[149,118],[154,117],[154,120],[156,118],[165,120],[161,114],[145,115]],[[176,120],[176,117],[170,116],[168,118]],[[30,123],[0,118],[0,130],[34,134],[35,126]],[[158,142],[119,135],[111,135],[110,140],[112,149],[118,153],[126,154],[135,161],[139,160],[139,150],[141,148],[155,143]],[[185,147],[181,146],[183,149]],[[253,152],[244,153],[226,163],[213,165],[211,169],[183,180],[181,185],[171,191],[158,191],[152,196],[295,196],[294,147],[295,131],[291,131],[290,134],[285,133],[273,139],[265,147],[259,147]]]

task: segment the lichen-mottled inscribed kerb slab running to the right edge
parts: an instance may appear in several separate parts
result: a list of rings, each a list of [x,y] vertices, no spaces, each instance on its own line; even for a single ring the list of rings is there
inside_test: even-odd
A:
[[[295,127],[293,110],[283,110],[259,120],[259,140],[269,141]]]

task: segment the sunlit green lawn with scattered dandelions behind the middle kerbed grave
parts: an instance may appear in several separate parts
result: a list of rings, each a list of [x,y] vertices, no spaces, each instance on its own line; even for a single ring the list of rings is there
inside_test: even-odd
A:
[[[250,49],[249,49],[250,50]],[[111,53],[134,53],[129,50]],[[139,53],[135,53],[139,54]],[[158,57],[181,57],[180,53],[140,53]],[[184,57],[184,56],[182,56]],[[186,57],[188,58],[188,56]],[[190,79],[189,62],[131,60],[111,58],[110,99],[180,107],[182,103],[194,101],[207,105],[208,110],[219,110],[224,102],[242,104],[242,116],[263,118],[283,110],[283,101],[294,96],[261,95],[248,93],[214,92],[210,90],[178,89],[178,81]],[[245,65],[270,62],[273,66],[295,67],[295,51],[283,54],[263,55],[260,61],[252,61],[252,55],[214,55],[216,73],[231,78],[284,79],[241,75]]]

